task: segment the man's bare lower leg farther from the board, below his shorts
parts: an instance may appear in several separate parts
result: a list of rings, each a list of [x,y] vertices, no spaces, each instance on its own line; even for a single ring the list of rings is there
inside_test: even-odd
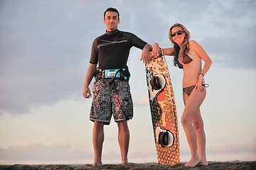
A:
[[[104,141],[104,123],[95,121],[92,131],[92,142],[93,142],[93,149],[94,149],[94,162],[93,166],[100,166],[102,165],[102,145]]]

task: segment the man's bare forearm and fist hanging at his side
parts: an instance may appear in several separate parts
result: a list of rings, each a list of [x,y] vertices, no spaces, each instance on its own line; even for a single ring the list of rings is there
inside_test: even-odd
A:
[[[85,77],[84,89],[82,91],[82,96],[84,96],[84,98],[90,98],[92,96],[90,93],[89,85],[96,71],[97,71],[97,64],[90,63],[87,69],[86,77]]]

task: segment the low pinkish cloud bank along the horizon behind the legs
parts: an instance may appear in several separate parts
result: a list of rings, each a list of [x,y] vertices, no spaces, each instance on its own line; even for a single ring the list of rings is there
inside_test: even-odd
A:
[[[237,159],[240,155],[246,160],[253,160],[256,145],[217,145],[206,148],[208,157],[215,155],[235,154]],[[181,157],[189,155],[189,149],[181,149]],[[102,159],[104,162],[119,163],[119,150],[115,152],[103,152]],[[182,158],[184,159],[184,158]],[[228,159],[228,158],[227,158]],[[133,162],[154,162],[156,161],[156,152],[129,152],[129,160]],[[35,162],[35,164],[91,164],[93,153],[88,148],[73,147],[68,142],[56,143],[54,145],[43,145],[41,143],[26,143],[7,148],[0,148],[0,164],[26,164],[26,162]]]

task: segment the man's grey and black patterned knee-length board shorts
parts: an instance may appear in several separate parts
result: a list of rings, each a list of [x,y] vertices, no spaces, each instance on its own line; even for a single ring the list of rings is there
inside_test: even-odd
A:
[[[110,125],[114,121],[129,120],[133,117],[133,103],[129,82],[119,79],[99,79],[92,87],[90,120]]]

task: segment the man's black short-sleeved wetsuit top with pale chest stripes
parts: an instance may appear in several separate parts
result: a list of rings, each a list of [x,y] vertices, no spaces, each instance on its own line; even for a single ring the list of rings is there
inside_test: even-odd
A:
[[[90,63],[99,62],[101,69],[128,69],[127,60],[131,47],[143,49],[145,45],[146,42],[133,33],[107,31],[93,41]]]

